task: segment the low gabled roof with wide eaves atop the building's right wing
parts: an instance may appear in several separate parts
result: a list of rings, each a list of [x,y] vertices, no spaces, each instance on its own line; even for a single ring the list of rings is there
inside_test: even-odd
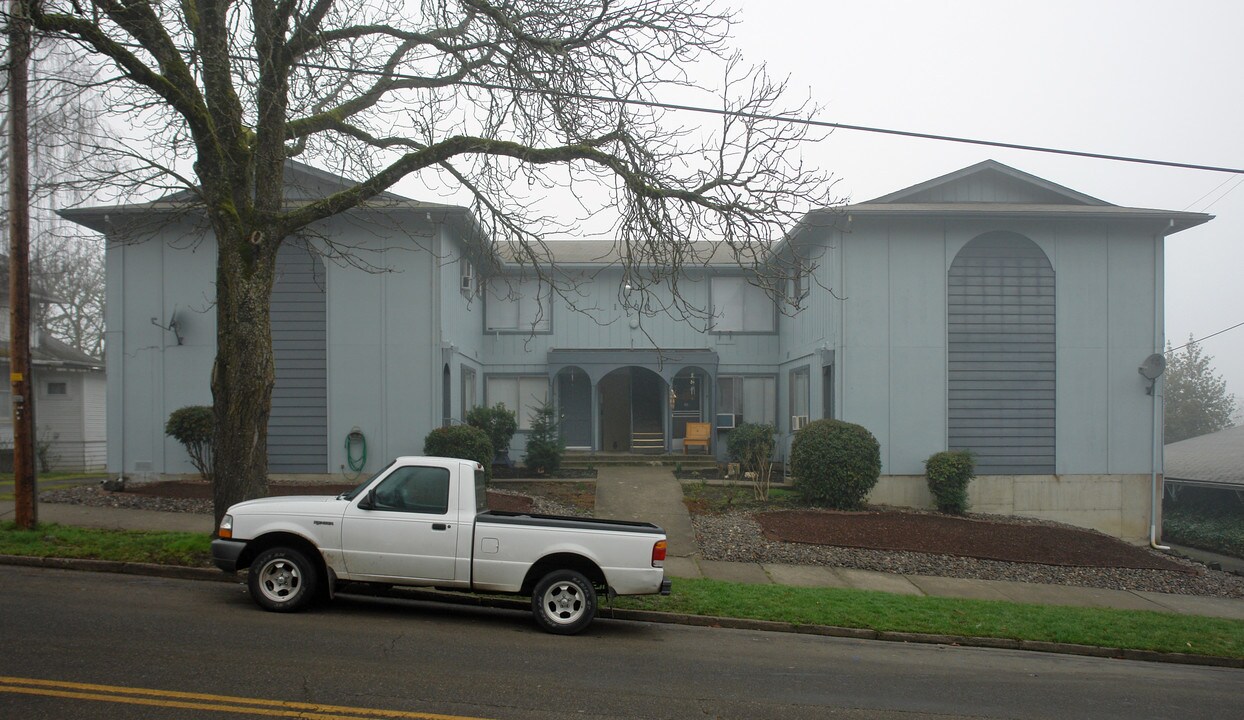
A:
[[[996,160],[984,160],[873,200],[812,210],[790,238],[812,229],[846,228],[856,218],[1144,220],[1169,235],[1208,223],[1213,215],[1112,205]]]

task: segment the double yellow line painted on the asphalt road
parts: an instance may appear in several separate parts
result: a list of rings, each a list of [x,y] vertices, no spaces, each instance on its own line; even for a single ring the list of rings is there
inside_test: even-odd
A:
[[[358,718],[480,720],[478,718],[468,718],[463,715],[438,715],[433,713],[407,713],[403,710],[381,710],[374,708],[320,705],[315,703],[296,703],[292,700],[238,698],[231,695],[210,695],[205,693],[184,693],[179,690],[153,690],[148,688],[122,688],[118,685],[95,685],[90,683],[41,680],[36,678],[6,678],[2,675],[0,675],[0,693],[42,695],[73,700],[96,700],[102,703],[124,703],[128,705],[149,705],[187,710],[244,713],[248,715],[266,715],[271,718],[300,718],[306,720],[357,720]]]

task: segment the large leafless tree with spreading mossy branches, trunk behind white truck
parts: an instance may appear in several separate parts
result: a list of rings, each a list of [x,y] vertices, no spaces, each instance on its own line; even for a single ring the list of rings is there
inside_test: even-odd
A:
[[[632,287],[620,302],[703,320],[677,292],[707,260],[698,241],[765,266],[832,200],[799,159],[806,126],[766,119],[812,108],[782,107],[784,83],[730,55],[733,17],[710,0],[45,0],[32,15],[112,65],[112,107],[153,148],[133,153],[134,182],[180,180],[216,238],[218,519],[266,490],[269,305],[292,233],[417,174],[468,190],[486,236],[572,301],[545,239],[607,213]],[[700,61],[719,87],[693,81]],[[651,104],[667,91],[713,91],[731,112],[678,124]],[[358,180],[285,204],[291,157]],[[577,216],[539,201],[554,193]]]

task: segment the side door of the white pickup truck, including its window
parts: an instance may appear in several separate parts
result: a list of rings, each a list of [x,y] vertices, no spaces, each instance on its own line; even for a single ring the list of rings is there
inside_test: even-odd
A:
[[[358,579],[454,579],[458,499],[445,468],[393,470],[341,522],[346,572]],[[369,507],[360,507],[360,504]]]

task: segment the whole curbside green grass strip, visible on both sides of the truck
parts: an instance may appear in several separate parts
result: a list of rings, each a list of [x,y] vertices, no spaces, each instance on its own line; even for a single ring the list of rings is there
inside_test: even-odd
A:
[[[0,555],[82,557],[203,567],[207,535],[0,525]],[[1244,658],[1244,622],[1152,612],[911,597],[840,588],[674,581],[668,597],[618,598],[617,607],[979,638],[1009,638]]]

